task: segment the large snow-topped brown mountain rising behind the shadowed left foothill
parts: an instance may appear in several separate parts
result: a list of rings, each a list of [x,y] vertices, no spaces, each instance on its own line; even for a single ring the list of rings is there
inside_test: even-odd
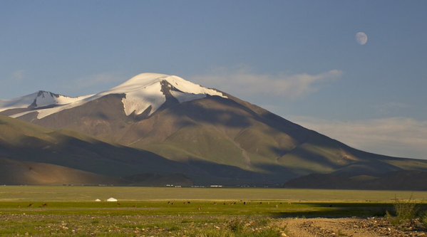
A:
[[[425,160],[354,149],[262,107],[175,75],[143,73],[73,103],[14,114],[15,108],[0,115],[150,152],[186,167],[179,170],[186,170],[182,172],[186,177],[205,182],[212,173],[203,178],[204,169],[218,174],[224,169],[222,178],[213,175],[212,180],[233,185],[249,184],[249,177],[259,179],[252,184],[277,185],[308,174],[427,171]],[[197,175],[188,172],[188,167],[197,167]],[[161,172],[159,167],[153,169]]]

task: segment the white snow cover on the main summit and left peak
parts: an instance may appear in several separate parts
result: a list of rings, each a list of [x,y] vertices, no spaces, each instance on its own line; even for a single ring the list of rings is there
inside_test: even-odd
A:
[[[217,90],[204,88],[191,83],[176,75],[158,73],[142,73],[136,75],[125,83],[96,95],[84,95],[77,98],[58,95],[46,91],[39,91],[12,100],[0,100],[0,112],[4,110],[26,108],[28,110],[12,113],[11,117],[21,117],[32,112],[37,112],[37,118],[42,119],[56,112],[78,107],[87,102],[102,98],[106,95],[125,95],[122,99],[123,110],[126,115],[140,115],[148,111],[153,114],[163,105],[167,98],[172,97],[178,102],[187,102],[205,98],[207,95],[216,95],[226,98]]]

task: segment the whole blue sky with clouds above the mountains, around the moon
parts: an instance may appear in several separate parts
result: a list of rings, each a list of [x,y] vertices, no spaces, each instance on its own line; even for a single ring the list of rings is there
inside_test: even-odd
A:
[[[356,148],[427,159],[426,12],[416,0],[3,0],[0,98],[166,73]]]

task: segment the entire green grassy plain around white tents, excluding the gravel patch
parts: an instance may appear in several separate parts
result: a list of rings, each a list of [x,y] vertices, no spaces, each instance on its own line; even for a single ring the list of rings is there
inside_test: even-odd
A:
[[[283,217],[384,216],[411,196],[426,207],[407,191],[0,186],[0,235],[280,236]]]

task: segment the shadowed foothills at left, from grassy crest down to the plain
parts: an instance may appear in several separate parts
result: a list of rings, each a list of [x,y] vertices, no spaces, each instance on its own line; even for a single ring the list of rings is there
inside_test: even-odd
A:
[[[0,175],[0,184],[262,185],[296,177],[292,173],[249,172],[196,159],[175,162],[143,149],[1,115],[0,159],[1,170],[8,170]],[[62,176],[54,178],[53,174],[60,172]]]

